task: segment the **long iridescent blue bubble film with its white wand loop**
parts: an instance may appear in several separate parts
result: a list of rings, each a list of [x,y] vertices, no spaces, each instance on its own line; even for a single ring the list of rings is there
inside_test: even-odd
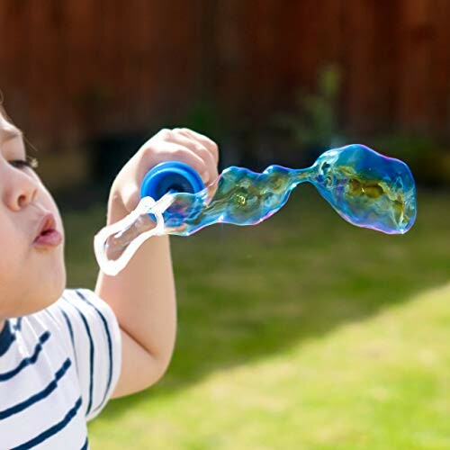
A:
[[[302,182],[314,184],[341,217],[358,227],[404,234],[416,220],[410,168],[353,144],[322,153],[308,168],[272,165],[256,173],[229,166],[201,192],[166,193],[157,202],[144,197],[129,216],[95,235],[95,256],[104,273],[116,275],[151,236],[190,236],[213,223],[256,225],[279,211]]]

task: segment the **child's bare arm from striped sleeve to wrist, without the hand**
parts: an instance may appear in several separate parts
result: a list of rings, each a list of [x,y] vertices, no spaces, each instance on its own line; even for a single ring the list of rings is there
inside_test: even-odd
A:
[[[108,225],[128,214],[108,208]],[[166,372],[175,346],[175,282],[168,236],[153,237],[118,275],[100,271],[95,293],[121,327],[121,376],[112,398],[141,391]]]

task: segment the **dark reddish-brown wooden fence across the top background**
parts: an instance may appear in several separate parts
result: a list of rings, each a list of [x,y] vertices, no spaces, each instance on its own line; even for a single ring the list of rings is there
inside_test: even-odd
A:
[[[337,62],[349,129],[446,134],[449,17],[449,0],[2,0],[0,89],[51,147],[181,117],[202,94],[264,126]]]

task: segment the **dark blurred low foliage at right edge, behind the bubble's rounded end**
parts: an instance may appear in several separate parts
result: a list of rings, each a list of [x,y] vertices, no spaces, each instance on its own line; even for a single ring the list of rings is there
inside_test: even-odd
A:
[[[371,139],[371,147],[404,161],[419,183],[450,185],[450,153],[438,139],[417,133],[393,133]]]

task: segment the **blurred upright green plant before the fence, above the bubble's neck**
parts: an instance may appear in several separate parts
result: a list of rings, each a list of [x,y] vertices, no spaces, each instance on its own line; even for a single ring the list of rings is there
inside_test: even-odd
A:
[[[337,100],[341,79],[337,64],[322,67],[317,94],[308,94],[301,88],[296,95],[296,111],[275,114],[275,125],[289,130],[294,141],[305,148],[311,157],[318,157],[327,148],[336,148],[345,142],[338,127]]]

